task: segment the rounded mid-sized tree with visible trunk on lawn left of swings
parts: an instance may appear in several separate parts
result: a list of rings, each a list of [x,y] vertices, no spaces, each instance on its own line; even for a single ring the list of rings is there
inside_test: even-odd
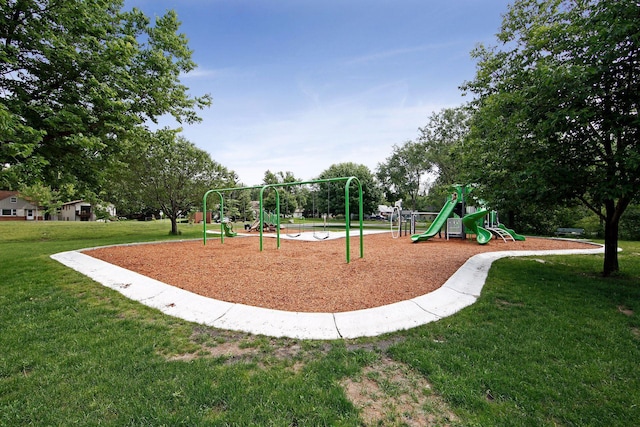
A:
[[[207,190],[235,185],[235,173],[177,133],[161,129],[148,134],[145,150],[132,153],[129,167],[118,172],[125,198],[161,210],[171,220],[173,235],[179,234],[178,217],[199,207]]]

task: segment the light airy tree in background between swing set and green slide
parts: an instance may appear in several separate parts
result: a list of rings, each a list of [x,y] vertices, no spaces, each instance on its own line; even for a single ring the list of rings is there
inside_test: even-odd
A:
[[[407,141],[402,146],[394,145],[391,156],[384,163],[378,163],[376,177],[387,189],[387,199],[410,199],[411,208],[416,210],[422,178],[431,168],[424,145]]]

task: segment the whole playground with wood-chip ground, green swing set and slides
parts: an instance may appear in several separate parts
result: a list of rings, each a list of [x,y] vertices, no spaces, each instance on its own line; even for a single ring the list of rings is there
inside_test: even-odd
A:
[[[264,212],[263,194],[265,190],[273,191],[275,214],[258,216],[253,226],[245,227],[245,233],[233,231],[232,225],[225,221],[220,227],[210,229],[203,222],[204,244],[187,241],[109,247],[87,254],[218,301],[289,312],[343,313],[429,294],[480,253],[593,249],[592,245],[575,241],[526,239],[497,220],[490,221],[495,226],[485,225],[484,218],[489,215],[486,210],[473,210],[463,218],[452,219],[456,212],[464,212],[465,200],[471,191],[469,186],[461,185],[454,186],[440,213],[421,234],[401,236],[394,232],[393,216],[388,232],[368,230],[365,233],[360,220],[358,230],[355,227],[350,230],[349,221],[342,231],[329,232],[325,224],[322,238],[318,238],[316,230],[302,232],[302,228],[294,234],[287,233],[286,229],[283,233],[280,191],[294,185],[329,182],[344,183],[345,201],[349,200],[350,184],[357,185],[362,218],[362,188],[355,177],[272,184],[260,187],[259,204],[260,212]],[[224,218],[223,193],[233,190],[237,189],[208,191],[203,197],[203,212],[207,211],[207,196],[213,194],[219,200],[220,218]],[[345,212],[348,216],[346,202]],[[394,212],[396,219],[400,218],[401,208]],[[450,239],[455,221],[462,221],[467,233],[471,233],[469,237],[475,235],[475,239],[467,238],[462,232],[458,233],[461,238]],[[444,236],[440,233],[443,227],[447,230]],[[252,229],[254,232],[249,233]],[[220,239],[210,238],[207,244],[209,233],[217,233]],[[492,238],[493,234],[500,238]],[[336,236],[341,238],[334,238]],[[415,242],[421,243],[412,244]]]

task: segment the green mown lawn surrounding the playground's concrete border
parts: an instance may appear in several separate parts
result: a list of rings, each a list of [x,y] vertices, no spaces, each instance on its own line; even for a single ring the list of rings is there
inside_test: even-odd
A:
[[[197,225],[180,229],[180,238],[201,237]],[[614,278],[598,275],[601,256],[504,259],[478,302],[452,317],[334,342],[174,319],[49,258],[169,239],[168,232],[168,222],[0,223],[0,426],[628,426],[640,419],[638,242],[621,242],[622,273]],[[363,378],[383,404],[359,405],[344,388],[367,384]]]

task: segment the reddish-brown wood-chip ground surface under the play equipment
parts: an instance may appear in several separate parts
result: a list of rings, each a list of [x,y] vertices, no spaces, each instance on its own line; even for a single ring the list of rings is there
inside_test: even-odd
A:
[[[354,255],[357,240],[352,237]],[[413,244],[391,233],[364,236],[364,257],[344,261],[344,239],[257,237],[116,246],[87,255],[221,301],[295,312],[346,312],[425,295],[441,287],[473,255],[493,251],[593,249],[557,239],[504,242],[438,238]]]

